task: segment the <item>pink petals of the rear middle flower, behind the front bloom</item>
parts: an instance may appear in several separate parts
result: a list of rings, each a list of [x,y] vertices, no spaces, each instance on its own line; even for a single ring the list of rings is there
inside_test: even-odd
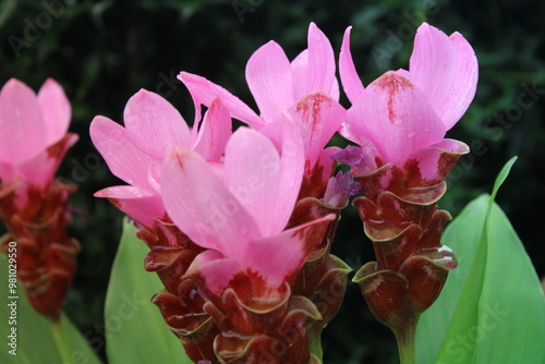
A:
[[[346,119],[338,104],[339,86],[335,77],[331,45],[318,27],[308,27],[308,49],[290,62],[282,48],[269,41],[257,49],[246,64],[246,81],[261,114],[208,80],[182,72],[179,78],[204,105],[219,98],[231,117],[267,135],[277,146],[281,123],[290,119],[299,125],[304,139],[305,174],[311,178],[315,166],[323,168],[319,183],[332,173],[330,155],[337,148],[323,150]]]

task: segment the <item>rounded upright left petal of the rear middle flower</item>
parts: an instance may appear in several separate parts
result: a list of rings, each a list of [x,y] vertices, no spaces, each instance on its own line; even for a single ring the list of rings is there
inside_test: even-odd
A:
[[[257,49],[246,64],[246,81],[264,120],[293,104],[291,65],[282,48],[269,41]]]

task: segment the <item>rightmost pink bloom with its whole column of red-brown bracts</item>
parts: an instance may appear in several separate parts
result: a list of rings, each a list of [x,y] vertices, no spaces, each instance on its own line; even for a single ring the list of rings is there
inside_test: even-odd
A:
[[[469,147],[444,138],[475,95],[477,62],[468,41],[424,23],[416,33],[409,71],[389,71],[363,87],[344,34],[339,68],[352,102],[341,134],[356,143],[336,155],[351,166],[364,197],[354,201],[376,259],[354,281],[374,315],[398,340],[436,300],[452,252],[440,243],[438,210],[445,178]]]

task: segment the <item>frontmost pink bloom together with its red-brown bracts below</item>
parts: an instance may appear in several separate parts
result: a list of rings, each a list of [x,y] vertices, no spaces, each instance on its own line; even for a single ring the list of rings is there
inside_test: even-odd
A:
[[[204,308],[220,329],[214,349],[222,363],[314,360],[307,326],[322,317],[310,300],[292,294],[292,284],[335,215],[286,229],[304,155],[289,121],[282,134],[279,153],[262,133],[239,129],[227,144],[219,173],[184,147],[175,148],[162,167],[169,216],[207,248],[187,278],[197,282],[207,301]],[[278,351],[279,345],[286,350]]]

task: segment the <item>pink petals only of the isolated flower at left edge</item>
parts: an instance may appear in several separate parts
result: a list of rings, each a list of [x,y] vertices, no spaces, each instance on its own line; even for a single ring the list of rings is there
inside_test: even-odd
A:
[[[77,135],[68,134],[70,102],[62,87],[48,78],[36,95],[12,78],[0,92],[0,179],[4,186],[24,181],[45,190]],[[17,193],[17,205],[27,201]]]

